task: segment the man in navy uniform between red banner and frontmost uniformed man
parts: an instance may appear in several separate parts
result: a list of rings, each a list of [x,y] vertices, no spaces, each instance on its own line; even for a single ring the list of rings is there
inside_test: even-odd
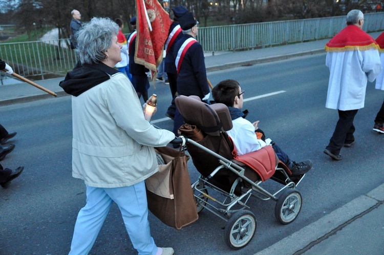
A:
[[[175,118],[176,104],[175,104],[175,96],[177,92],[177,70],[175,66],[175,58],[173,56],[173,49],[175,48],[175,44],[178,40],[183,37],[182,29],[179,25],[178,18],[188,12],[188,10],[184,6],[177,6],[172,8],[174,13],[174,21],[170,25],[168,38],[165,42],[165,64],[164,71],[167,73],[170,93],[172,94],[172,103],[168,107],[167,112],[165,113],[171,119]]]

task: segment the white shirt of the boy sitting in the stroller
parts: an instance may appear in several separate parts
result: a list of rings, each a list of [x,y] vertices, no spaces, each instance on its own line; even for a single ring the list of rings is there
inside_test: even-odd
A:
[[[232,120],[233,128],[227,131],[238,151],[238,155],[258,151],[267,144],[258,139],[254,133],[254,126],[248,120],[240,117]]]

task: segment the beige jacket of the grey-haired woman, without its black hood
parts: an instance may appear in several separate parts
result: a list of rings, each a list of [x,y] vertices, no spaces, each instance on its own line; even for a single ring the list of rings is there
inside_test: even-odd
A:
[[[111,76],[72,96],[72,176],[93,187],[136,184],[158,171],[154,146],[175,138],[144,119],[130,80]]]

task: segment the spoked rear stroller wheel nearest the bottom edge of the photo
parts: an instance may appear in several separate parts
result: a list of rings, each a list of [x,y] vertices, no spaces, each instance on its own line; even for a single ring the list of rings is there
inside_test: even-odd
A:
[[[225,225],[225,243],[235,250],[243,248],[251,241],[256,227],[256,217],[251,211],[238,211]]]

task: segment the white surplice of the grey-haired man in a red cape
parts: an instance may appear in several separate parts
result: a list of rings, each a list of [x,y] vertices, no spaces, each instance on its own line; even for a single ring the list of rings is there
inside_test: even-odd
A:
[[[326,108],[364,108],[367,80],[374,81],[381,71],[378,50],[328,52],[326,66],[330,71]]]

